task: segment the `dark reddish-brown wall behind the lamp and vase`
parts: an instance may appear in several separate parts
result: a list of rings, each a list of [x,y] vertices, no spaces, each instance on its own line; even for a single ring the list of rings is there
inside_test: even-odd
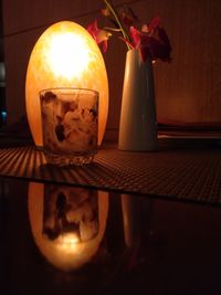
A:
[[[221,122],[221,1],[114,0],[129,3],[148,22],[160,15],[172,44],[172,62],[155,65],[159,120]],[[53,22],[86,27],[99,18],[102,0],[2,0],[8,124],[25,113],[24,82],[31,50]],[[109,77],[107,137],[117,138],[126,48],[110,40],[104,54]]]

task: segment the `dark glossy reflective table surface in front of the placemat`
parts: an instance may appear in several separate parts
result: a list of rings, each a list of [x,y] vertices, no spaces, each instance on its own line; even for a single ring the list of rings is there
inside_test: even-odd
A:
[[[221,294],[221,208],[0,178],[0,294]]]

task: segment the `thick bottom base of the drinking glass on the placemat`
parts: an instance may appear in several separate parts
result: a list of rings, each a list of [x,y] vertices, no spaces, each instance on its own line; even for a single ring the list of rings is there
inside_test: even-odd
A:
[[[76,155],[60,155],[52,154],[44,150],[46,161],[56,166],[83,166],[88,165],[93,161],[96,152],[90,154],[76,154]]]

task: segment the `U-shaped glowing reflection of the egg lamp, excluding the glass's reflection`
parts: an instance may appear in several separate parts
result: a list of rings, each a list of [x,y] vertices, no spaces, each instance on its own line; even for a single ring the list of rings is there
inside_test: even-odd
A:
[[[43,234],[44,221],[44,186],[43,183],[29,183],[29,220],[34,242],[42,255],[56,268],[62,271],[78,270],[90,263],[96,255],[106,229],[108,214],[108,193],[98,191],[98,232],[94,239],[77,243],[75,238],[65,234],[63,239],[46,239]],[[71,188],[72,194],[74,188]],[[51,222],[52,223],[52,222]]]

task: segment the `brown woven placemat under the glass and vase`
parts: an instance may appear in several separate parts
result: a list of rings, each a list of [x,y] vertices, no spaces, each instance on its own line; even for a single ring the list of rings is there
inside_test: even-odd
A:
[[[221,204],[221,150],[101,149],[90,166],[59,168],[34,147],[1,148],[0,176]]]

